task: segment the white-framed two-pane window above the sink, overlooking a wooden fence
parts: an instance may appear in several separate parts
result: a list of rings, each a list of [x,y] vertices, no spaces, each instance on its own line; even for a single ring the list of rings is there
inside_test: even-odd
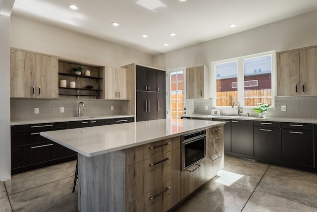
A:
[[[211,63],[214,107],[273,106],[275,94],[275,52],[265,52]]]

